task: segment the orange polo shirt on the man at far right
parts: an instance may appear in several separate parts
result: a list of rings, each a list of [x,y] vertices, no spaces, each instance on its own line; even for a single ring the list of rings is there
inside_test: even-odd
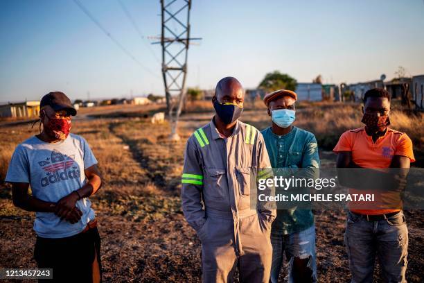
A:
[[[333,151],[335,153],[351,151],[352,161],[355,164],[371,169],[388,168],[394,155],[406,156],[411,162],[415,161],[411,139],[404,132],[391,128],[387,128],[385,135],[378,137],[376,142],[371,136],[366,135],[364,127],[348,130],[342,134]],[[351,209],[351,211],[378,215],[398,212],[399,209]]]

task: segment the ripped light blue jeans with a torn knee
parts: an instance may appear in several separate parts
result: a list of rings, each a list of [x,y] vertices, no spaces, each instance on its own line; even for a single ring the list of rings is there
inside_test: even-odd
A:
[[[281,235],[271,232],[271,282],[279,279],[283,255],[288,259],[288,282],[317,282],[315,225],[301,232]],[[307,278],[305,278],[307,277]]]

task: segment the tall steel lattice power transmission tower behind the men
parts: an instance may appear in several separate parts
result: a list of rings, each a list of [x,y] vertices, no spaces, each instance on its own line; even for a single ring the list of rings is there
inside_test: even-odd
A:
[[[179,139],[177,122],[186,97],[187,55],[190,38],[191,0],[161,0],[162,76],[166,106],[171,122],[171,139]]]

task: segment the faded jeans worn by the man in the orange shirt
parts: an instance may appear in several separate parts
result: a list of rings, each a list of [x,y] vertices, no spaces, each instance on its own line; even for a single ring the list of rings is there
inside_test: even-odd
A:
[[[406,282],[408,228],[403,212],[380,221],[348,212],[344,243],[352,283],[373,282],[376,256],[385,282]]]

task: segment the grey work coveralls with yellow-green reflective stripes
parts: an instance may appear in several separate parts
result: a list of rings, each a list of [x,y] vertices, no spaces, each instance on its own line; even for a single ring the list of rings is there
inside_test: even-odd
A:
[[[256,192],[251,180],[258,174],[269,178],[272,173],[260,169],[270,167],[262,135],[240,121],[230,137],[222,137],[211,121],[188,139],[182,209],[202,242],[206,282],[222,282],[219,278],[227,276],[233,260],[240,260],[240,275],[256,278],[251,282],[269,279],[270,230],[276,211],[251,203]]]

